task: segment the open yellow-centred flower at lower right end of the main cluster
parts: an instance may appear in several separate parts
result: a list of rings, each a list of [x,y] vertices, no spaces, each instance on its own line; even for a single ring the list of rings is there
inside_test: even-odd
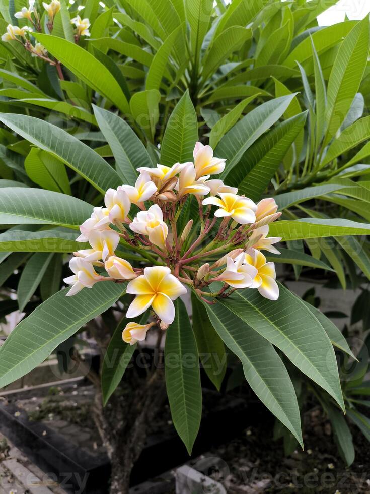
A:
[[[279,297],[279,287],[275,281],[275,265],[267,262],[262,252],[252,249],[244,254],[244,263],[254,266],[258,273],[253,279],[250,288],[257,288],[260,294],[269,300],[277,300]]]

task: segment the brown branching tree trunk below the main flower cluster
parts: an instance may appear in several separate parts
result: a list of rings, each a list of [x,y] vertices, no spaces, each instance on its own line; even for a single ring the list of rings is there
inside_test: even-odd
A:
[[[94,420],[111,460],[111,494],[127,494],[130,473],[140,456],[147,436],[147,426],[165,400],[165,380],[161,369],[146,378],[128,373],[119,391],[114,393],[105,408],[97,390]]]

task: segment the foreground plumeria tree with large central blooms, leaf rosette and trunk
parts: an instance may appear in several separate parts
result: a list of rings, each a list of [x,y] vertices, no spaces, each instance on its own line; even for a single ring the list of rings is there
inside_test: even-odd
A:
[[[29,251],[36,245],[50,253],[57,245],[58,250],[74,252],[69,263],[73,274],[64,280],[71,287],[39,305],[1,347],[0,386],[29,372],[110,307],[123,310],[113,333],[98,322],[89,326],[106,349],[101,377],[92,370],[88,376],[97,387],[94,415],[112,461],[112,492],[127,490],[147,424],[163,406],[165,387],[173,423],[191,452],[202,409],[198,359],[219,388],[226,347],[242,362],[257,396],[301,445],[297,396],[282,354],[344,410],[333,344],[349,355],[350,349],[325,316],[276,281],[271,257],[279,258],[274,245],[281,239],[362,234],[368,226],[339,219],[275,221],[281,211],[274,199],[261,198],[259,192],[255,202],[231,187],[228,178],[240,169],[242,147],[250,145],[248,134],[247,142],[239,137],[243,126],[249,127],[249,141],[257,141],[291,101],[288,95],[266,103],[262,124],[250,113],[213,153],[198,141],[196,115],[186,93],[168,122],[161,164],[153,161],[123,119],[94,106],[115,168],[48,122],[0,114],[12,131],[87,179],[102,194],[101,204],[105,202],[89,205],[31,187],[0,190],[1,223],[17,222],[21,229],[27,224],[42,226],[39,231],[10,230],[8,249]],[[250,179],[253,197],[269,179],[263,174]],[[35,264],[36,281],[48,262],[45,258]],[[192,323],[181,298],[189,293]],[[131,369],[125,373],[148,331],[157,334],[158,348],[166,335],[164,375],[157,365],[144,377]],[[115,391],[127,383],[129,393]]]

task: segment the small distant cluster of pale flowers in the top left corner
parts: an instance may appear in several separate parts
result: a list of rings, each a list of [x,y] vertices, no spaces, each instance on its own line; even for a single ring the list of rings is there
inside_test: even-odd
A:
[[[2,35],[2,41],[18,41],[26,48],[27,51],[31,53],[32,56],[42,58],[45,61],[48,61],[51,65],[57,65],[57,62],[55,60],[51,60],[50,58],[48,58],[47,51],[41,43],[36,43],[33,46],[31,40],[26,37],[26,34],[31,34],[34,30],[39,32],[41,31],[40,16],[35,7],[35,0],[29,0],[28,4],[28,8],[22,7],[19,12],[16,12],[14,14],[14,17],[17,19],[26,19],[32,24],[33,27],[18,27],[9,24],[7,27],[7,32]],[[43,2],[42,5],[47,13],[47,28],[51,33],[51,31],[53,30],[54,18],[61,7],[60,2],[59,0],[51,0],[50,4]],[[80,16],[76,16],[75,18],[71,19],[70,22],[76,27],[76,43],[79,41],[81,36],[90,36],[89,19],[81,19]]]

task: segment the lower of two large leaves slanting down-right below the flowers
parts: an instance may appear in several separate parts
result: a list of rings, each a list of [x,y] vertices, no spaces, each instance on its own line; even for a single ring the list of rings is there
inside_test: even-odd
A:
[[[297,396],[287,370],[270,342],[227,306],[206,305],[209,319],[221,339],[243,364],[249,385],[264,405],[303,445]]]

